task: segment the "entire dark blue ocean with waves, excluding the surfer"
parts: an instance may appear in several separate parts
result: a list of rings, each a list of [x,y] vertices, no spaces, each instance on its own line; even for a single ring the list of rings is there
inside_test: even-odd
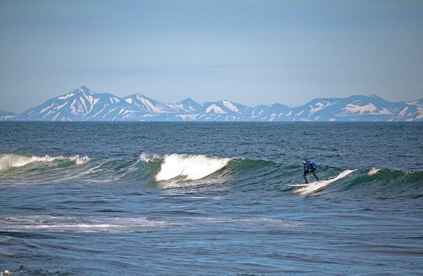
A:
[[[423,275],[422,123],[0,122],[1,275]],[[321,181],[307,175],[303,157]]]

